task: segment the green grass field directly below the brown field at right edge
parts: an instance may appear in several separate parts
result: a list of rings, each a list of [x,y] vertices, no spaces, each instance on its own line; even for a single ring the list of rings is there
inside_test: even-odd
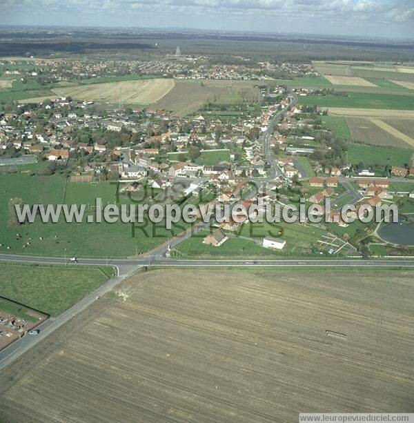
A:
[[[413,150],[409,148],[377,147],[364,146],[362,144],[349,144],[347,162],[350,164],[359,164],[363,162],[366,166],[375,166],[376,164],[385,166],[404,166],[408,163]]]

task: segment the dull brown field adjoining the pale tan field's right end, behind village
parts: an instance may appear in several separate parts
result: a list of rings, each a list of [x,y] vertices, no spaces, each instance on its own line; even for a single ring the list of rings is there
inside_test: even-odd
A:
[[[152,106],[172,110],[184,116],[198,110],[209,101],[248,103],[259,101],[260,92],[254,85],[257,81],[209,80],[195,81],[178,79],[175,87]]]

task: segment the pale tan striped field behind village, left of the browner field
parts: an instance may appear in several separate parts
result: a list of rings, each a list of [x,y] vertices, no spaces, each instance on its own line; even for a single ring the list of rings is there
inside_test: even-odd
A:
[[[108,103],[117,103],[121,95],[125,104],[150,104],[164,97],[174,84],[174,79],[141,79],[53,88],[53,92],[59,97]]]

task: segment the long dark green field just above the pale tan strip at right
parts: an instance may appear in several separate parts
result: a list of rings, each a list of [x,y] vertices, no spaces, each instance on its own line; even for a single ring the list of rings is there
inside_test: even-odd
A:
[[[308,95],[299,97],[305,106],[324,108],[380,108],[390,110],[414,110],[414,100],[410,95],[371,94],[367,92],[348,92],[348,97],[336,95]]]

